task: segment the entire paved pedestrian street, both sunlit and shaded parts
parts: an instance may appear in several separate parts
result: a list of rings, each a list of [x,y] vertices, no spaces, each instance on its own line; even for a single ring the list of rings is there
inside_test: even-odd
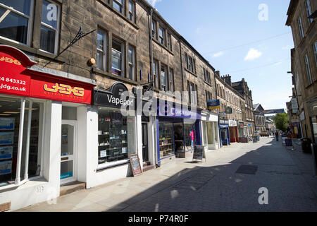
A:
[[[316,181],[310,154],[270,137],[213,150],[203,162],[177,159],[139,177],[18,211],[316,211]]]

